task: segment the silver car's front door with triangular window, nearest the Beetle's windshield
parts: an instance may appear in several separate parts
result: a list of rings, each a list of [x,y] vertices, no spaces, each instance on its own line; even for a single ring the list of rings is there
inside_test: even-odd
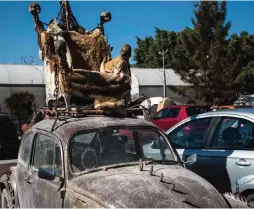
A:
[[[183,161],[190,155],[197,154],[197,162],[187,164],[186,168],[199,175],[202,175],[202,170],[199,168],[199,155],[212,128],[214,117],[207,116],[185,121],[168,133],[169,141]]]

